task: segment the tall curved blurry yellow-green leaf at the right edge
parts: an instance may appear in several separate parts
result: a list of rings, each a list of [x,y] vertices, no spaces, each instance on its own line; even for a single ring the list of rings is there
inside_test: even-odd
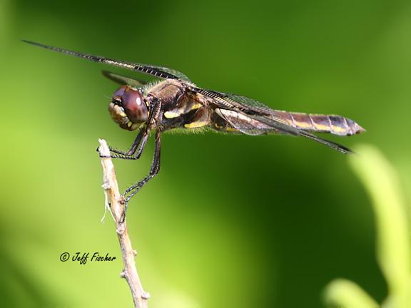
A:
[[[397,173],[377,148],[361,145],[350,165],[372,200],[377,227],[377,261],[397,307],[407,303],[410,288],[410,230]],[[403,299],[403,300],[402,300]]]

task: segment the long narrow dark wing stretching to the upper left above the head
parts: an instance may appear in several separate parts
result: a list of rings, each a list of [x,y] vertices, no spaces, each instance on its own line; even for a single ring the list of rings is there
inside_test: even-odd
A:
[[[141,63],[118,61],[118,60],[113,60],[111,58],[105,58],[101,56],[92,56],[86,53],[79,53],[77,51],[69,51],[63,48],[59,48],[59,47],[47,46],[41,43],[36,43],[34,41],[26,41],[26,40],[22,40],[22,41],[24,41],[25,43],[34,45],[34,46],[39,46],[39,47],[49,49],[51,51],[65,53],[70,56],[78,56],[80,58],[86,58],[94,62],[106,63],[112,66],[118,66],[121,68],[128,68],[131,71],[140,71],[141,73],[147,73],[149,75],[160,77],[160,78],[181,79],[183,81],[190,81],[190,79],[186,75],[184,75],[183,73],[179,71],[173,70],[172,68],[165,68],[161,66],[150,66],[150,65],[141,64]]]

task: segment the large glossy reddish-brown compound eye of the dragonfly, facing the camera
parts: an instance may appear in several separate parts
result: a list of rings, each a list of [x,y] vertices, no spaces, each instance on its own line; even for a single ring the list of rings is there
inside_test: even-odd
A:
[[[121,102],[124,112],[133,123],[146,122],[148,119],[148,111],[140,92],[132,90],[131,88],[126,89],[121,96]]]

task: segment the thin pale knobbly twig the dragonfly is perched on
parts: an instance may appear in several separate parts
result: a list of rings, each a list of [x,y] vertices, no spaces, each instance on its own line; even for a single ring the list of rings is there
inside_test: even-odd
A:
[[[144,292],[140,278],[138,277],[136,263],[134,262],[136,251],[133,250],[131,246],[126,221],[121,221],[124,212],[124,202],[123,197],[118,192],[118,184],[116,174],[114,173],[114,165],[110,158],[110,150],[108,149],[106,140],[98,139],[98,142],[100,143],[98,152],[101,156],[101,165],[103,165],[103,189],[106,195],[106,202],[108,202],[106,206],[108,210],[111,211],[114,222],[116,222],[116,232],[123,257],[124,269],[121,272],[121,277],[126,279],[130,287],[134,307],[147,308],[149,294]]]

